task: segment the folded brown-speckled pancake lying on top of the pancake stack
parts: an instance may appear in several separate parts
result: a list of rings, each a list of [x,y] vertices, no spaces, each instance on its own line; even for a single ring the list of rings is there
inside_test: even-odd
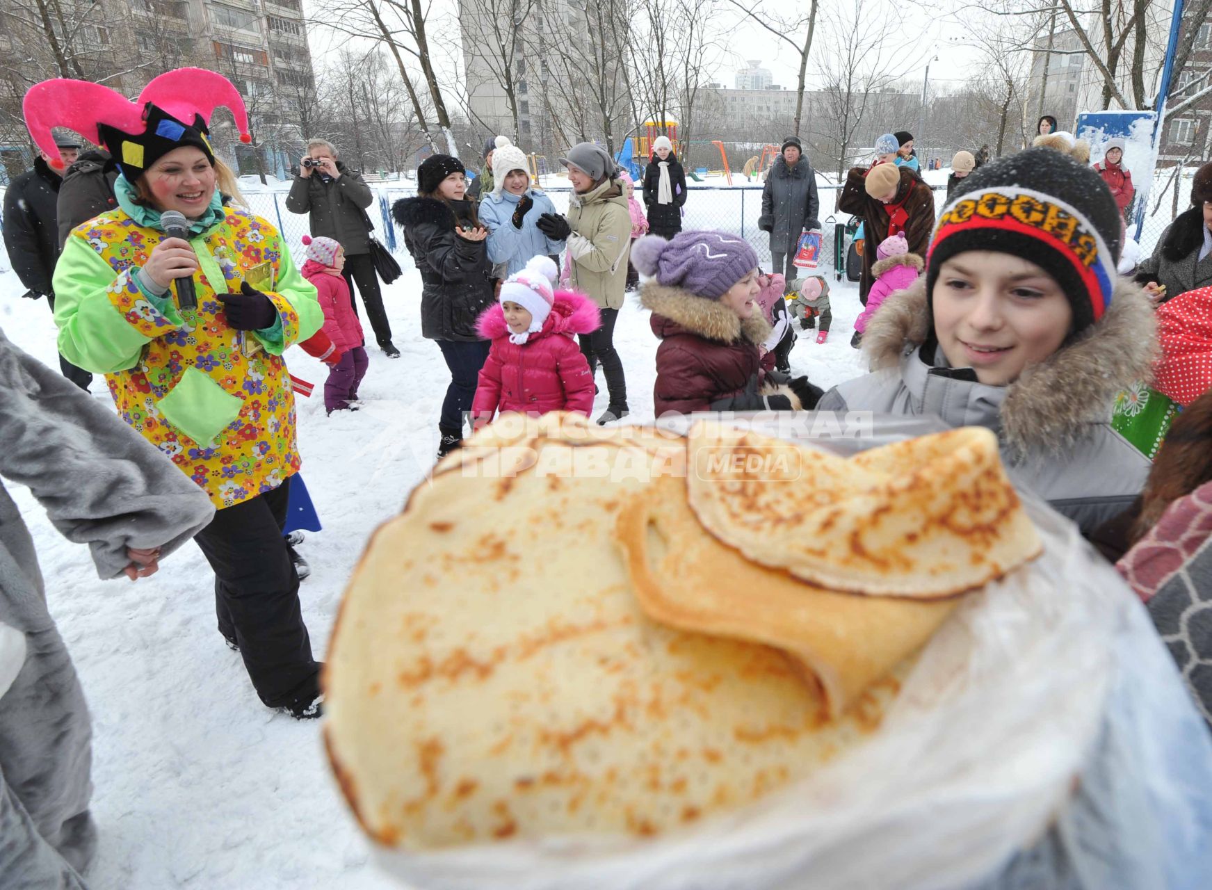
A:
[[[962,427],[841,460],[701,422],[691,509],[749,559],[834,591],[953,597],[1039,555],[993,433]]]

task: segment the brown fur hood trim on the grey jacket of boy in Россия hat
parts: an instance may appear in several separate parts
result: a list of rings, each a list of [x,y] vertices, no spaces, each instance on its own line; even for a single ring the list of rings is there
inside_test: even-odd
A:
[[[930,331],[926,280],[888,296],[867,323],[871,370],[896,367]],[[1002,439],[1014,451],[1067,449],[1082,426],[1107,422],[1116,394],[1153,376],[1157,321],[1139,286],[1119,279],[1107,314],[1006,387]]]

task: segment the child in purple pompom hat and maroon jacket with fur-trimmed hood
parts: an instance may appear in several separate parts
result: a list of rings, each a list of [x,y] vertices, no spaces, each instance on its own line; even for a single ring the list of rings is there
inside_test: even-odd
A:
[[[650,276],[640,303],[652,310],[657,417],[694,411],[811,409],[821,390],[807,377],[766,386],[759,346],[771,326],[754,303],[758,255],[725,232],[684,232],[635,243],[635,268]]]

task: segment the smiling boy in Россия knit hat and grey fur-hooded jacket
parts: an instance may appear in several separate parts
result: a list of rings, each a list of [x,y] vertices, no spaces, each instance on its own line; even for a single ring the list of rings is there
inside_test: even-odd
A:
[[[1156,348],[1149,301],[1116,275],[1120,239],[1088,166],[1039,148],[981,167],[943,210],[926,275],[868,321],[873,373],[818,407],[987,427],[1011,478],[1092,532],[1149,472],[1111,427]]]

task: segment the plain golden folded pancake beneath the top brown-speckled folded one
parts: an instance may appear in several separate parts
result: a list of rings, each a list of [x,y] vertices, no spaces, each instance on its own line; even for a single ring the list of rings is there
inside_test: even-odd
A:
[[[681,479],[631,497],[617,531],[650,618],[788,651],[819,680],[833,717],[921,647],[961,599],[837,593],[751,563],[703,530]]]

